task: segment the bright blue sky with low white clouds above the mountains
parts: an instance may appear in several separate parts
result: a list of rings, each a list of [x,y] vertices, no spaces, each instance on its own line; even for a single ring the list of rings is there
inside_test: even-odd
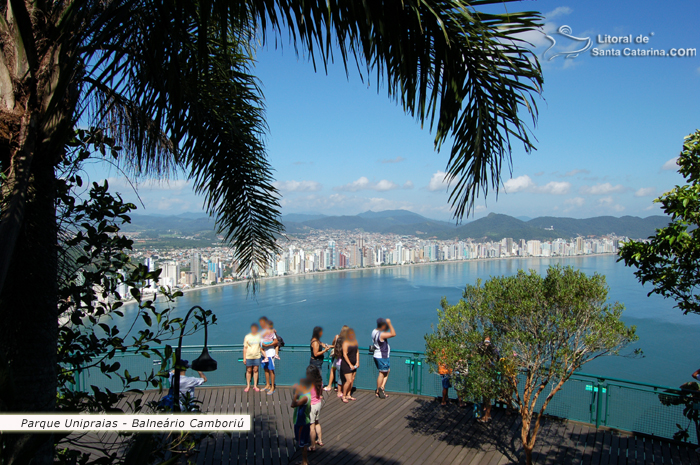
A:
[[[699,48],[696,1],[549,2],[512,4],[509,9],[546,14],[544,31],[573,50],[590,37],[601,50]],[[653,33],[653,35],[652,35]],[[648,38],[646,44],[596,44],[598,34]],[[528,37],[541,56],[550,42]],[[433,148],[433,134],[390,101],[375,82],[345,75],[341,64],[328,74],[298,58],[292,47],[262,49],[256,73],[267,104],[267,146],[282,192],[283,213],[356,214],[409,209],[449,219],[443,172],[447,152]],[[594,57],[542,62],[543,99],[533,129],[537,151],[514,145],[513,173],[504,173],[496,200],[477,202],[475,217],[490,212],[514,216],[649,216],[652,200],[682,181],[673,159],[683,137],[700,128],[700,58]],[[90,168],[93,179],[109,178],[116,190],[135,194],[106,166]],[[186,179],[141,183],[145,214],[200,211],[202,199]]]

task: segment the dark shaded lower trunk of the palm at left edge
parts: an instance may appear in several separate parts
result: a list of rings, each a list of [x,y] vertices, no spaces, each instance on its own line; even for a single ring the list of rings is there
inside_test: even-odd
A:
[[[28,137],[38,138],[38,134]],[[24,150],[20,155],[20,148],[16,154],[34,160],[24,214],[21,224],[16,225],[19,230],[14,231],[16,242],[0,294],[0,363],[6,364],[11,386],[5,394],[9,398],[2,400],[14,412],[51,412],[56,401],[55,174],[50,153],[39,150]],[[0,237],[0,241],[5,239]],[[51,435],[13,435],[5,445],[2,453],[7,464],[53,462]]]

